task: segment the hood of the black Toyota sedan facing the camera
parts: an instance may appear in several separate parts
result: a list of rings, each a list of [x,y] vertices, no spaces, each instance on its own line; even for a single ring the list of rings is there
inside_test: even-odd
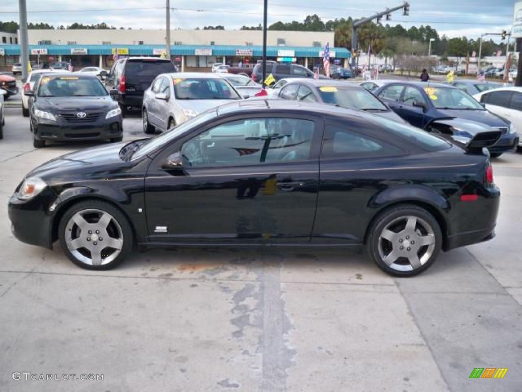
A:
[[[40,110],[111,110],[118,106],[110,96],[103,97],[38,97],[35,105]]]

